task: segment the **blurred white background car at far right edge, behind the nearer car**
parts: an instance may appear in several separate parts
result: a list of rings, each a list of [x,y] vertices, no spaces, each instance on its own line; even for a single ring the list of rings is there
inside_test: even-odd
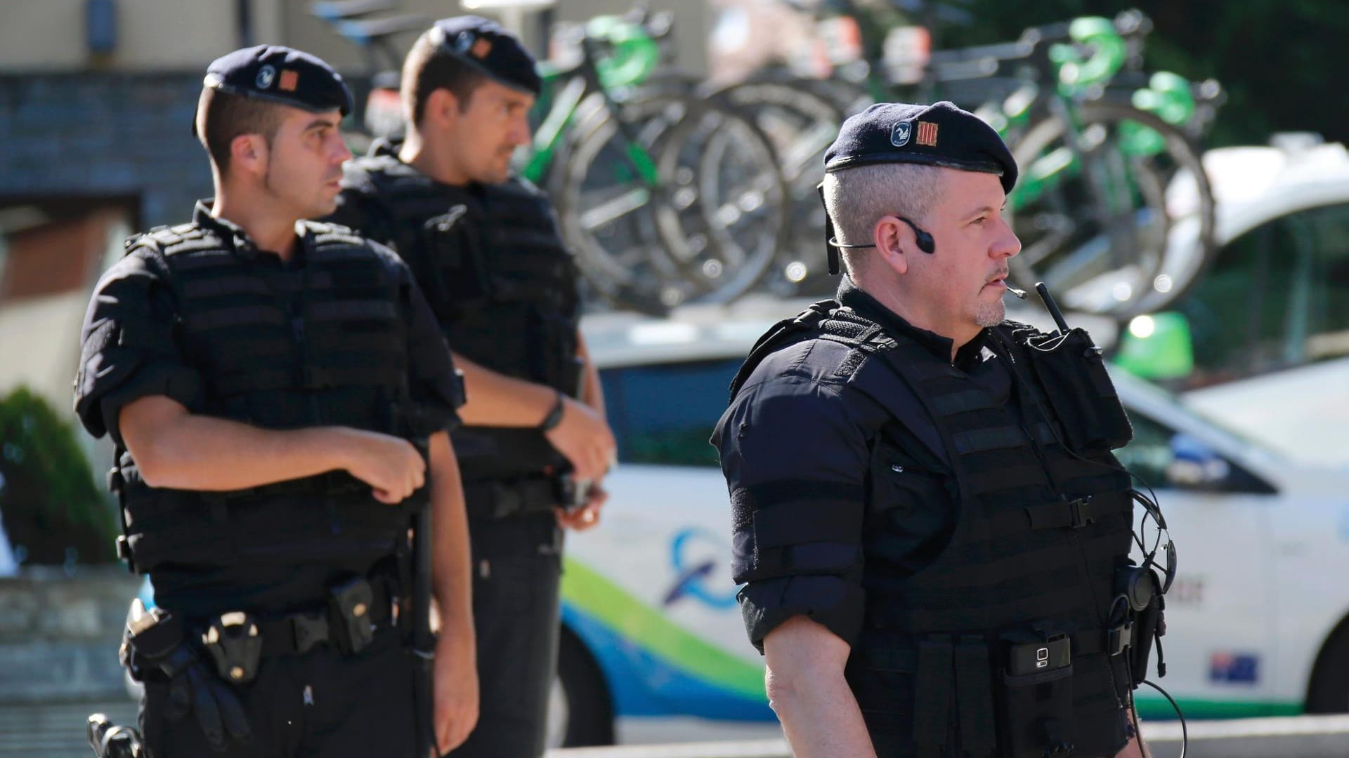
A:
[[[1287,134],[1203,165],[1218,251],[1195,276],[1197,227],[1172,236],[1164,271],[1194,283],[1129,324],[1118,360],[1291,457],[1349,465],[1349,152]],[[1179,217],[1191,193],[1171,187]]]

